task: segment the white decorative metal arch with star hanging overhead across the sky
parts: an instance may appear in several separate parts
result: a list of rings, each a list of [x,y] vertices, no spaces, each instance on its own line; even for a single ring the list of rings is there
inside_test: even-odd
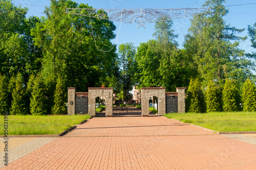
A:
[[[168,19],[178,19],[198,15],[201,13],[211,13],[212,8],[181,8],[181,9],[82,9],[67,8],[68,14],[93,17],[98,19],[109,19],[127,24],[138,23],[138,27],[145,28],[145,23],[157,22],[161,17]]]

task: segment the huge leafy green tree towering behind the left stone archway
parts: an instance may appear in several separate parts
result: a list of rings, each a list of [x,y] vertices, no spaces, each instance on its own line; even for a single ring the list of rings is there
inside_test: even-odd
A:
[[[112,48],[116,27],[110,20],[67,14],[66,8],[92,7],[69,0],[51,1],[46,17],[32,31],[35,44],[44,52],[42,75],[46,84],[56,85],[52,82],[60,77],[65,88],[76,87],[77,91],[99,87],[114,75],[107,68],[117,58],[115,48],[98,50]]]

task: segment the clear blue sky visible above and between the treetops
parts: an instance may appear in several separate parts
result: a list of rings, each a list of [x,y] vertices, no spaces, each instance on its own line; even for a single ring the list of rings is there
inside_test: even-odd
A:
[[[96,9],[145,9],[145,8],[154,8],[154,9],[167,9],[167,8],[200,8],[204,4],[205,0],[155,0],[155,1],[146,1],[146,0],[74,0],[74,2],[80,4],[88,4]],[[44,12],[44,7],[37,6],[49,6],[49,0],[15,0],[13,3],[16,4],[26,4],[29,5],[29,14],[28,15],[37,15],[42,16],[36,13]],[[256,3],[255,0],[227,0],[225,6],[229,5],[240,5],[240,4],[250,4]],[[35,5],[35,6],[33,6]],[[244,5],[244,6],[232,6],[227,7],[229,9],[229,14],[225,16],[225,20],[230,24],[231,27],[237,27],[239,29],[245,28],[246,30],[240,34],[240,36],[248,35],[247,27],[248,25],[253,25],[256,22],[256,4],[254,5]],[[182,44],[184,41],[184,35],[187,34],[187,30],[190,26],[190,19],[180,18],[174,19],[175,33],[179,35],[177,39],[180,48],[183,48]],[[115,31],[118,35],[120,22],[114,21],[117,29]],[[120,34],[117,39],[117,44],[133,42],[135,46],[139,46],[141,42],[146,42],[150,39],[153,39],[152,34],[154,33],[154,23],[145,23],[146,29],[140,27],[137,29],[137,24],[126,25],[121,23]],[[113,40],[116,42],[116,39]],[[240,47],[245,50],[247,53],[256,51],[251,46],[249,38],[242,42]],[[109,50],[109,49],[105,49]]]

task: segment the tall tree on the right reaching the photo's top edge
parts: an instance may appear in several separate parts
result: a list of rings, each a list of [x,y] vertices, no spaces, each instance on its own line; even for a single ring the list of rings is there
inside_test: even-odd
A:
[[[185,49],[194,59],[204,86],[210,80],[238,79],[243,83],[252,76],[254,65],[245,58],[239,43],[246,37],[237,36],[244,29],[230,27],[224,20],[228,10],[224,0],[208,0],[204,7],[212,8],[212,12],[197,15],[191,20],[188,34],[185,36]]]

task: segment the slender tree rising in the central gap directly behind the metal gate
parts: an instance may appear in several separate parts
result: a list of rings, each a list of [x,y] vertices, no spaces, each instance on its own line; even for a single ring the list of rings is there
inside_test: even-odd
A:
[[[136,72],[135,46],[133,43],[120,44],[118,46],[119,65],[121,68],[122,90],[131,90]]]

